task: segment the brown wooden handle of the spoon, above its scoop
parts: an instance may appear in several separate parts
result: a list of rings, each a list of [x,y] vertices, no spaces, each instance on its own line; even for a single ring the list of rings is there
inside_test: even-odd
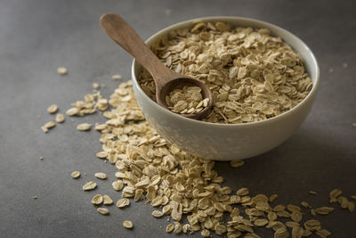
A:
[[[105,13],[100,19],[101,29],[118,45],[130,53],[137,62],[150,72],[156,81],[156,86],[163,86],[170,78],[176,76],[175,72],[166,68],[152,53],[150,48],[142,41],[134,29],[120,16],[114,13]]]

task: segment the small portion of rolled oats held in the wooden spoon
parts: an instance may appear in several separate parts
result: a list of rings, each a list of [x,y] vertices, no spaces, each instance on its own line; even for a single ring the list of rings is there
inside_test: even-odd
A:
[[[168,109],[180,114],[194,114],[202,111],[209,104],[209,98],[204,98],[198,86],[183,86],[174,89],[166,95]]]

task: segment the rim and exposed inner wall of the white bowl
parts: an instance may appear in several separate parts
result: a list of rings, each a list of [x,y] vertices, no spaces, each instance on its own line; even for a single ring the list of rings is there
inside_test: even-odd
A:
[[[296,53],[298,53],[300,55],[300,57],[303,59],[305,70],[308,72],[308,74],[312,78],[312,82],[313,82],[311,92],[303,99],[303,101],[301,103],[299,103],[298,105],[296,105],[293,109],[291,109],[289,111],[286,111],[286,112],[284,112],[276,117],[273,117],[271,119],[265,119],[263,121],[244,123],[241,125],[240,124],[223,124],[221,126],[224,126],[224,127],[226,127],[226,126],[231,126],[231,127],[247,126],[250,124],[267,122],[272,119],[278,119],[279,117],[283,117],[287,113],[294,111],[296,108],[301,106],[303,104],[303,102],[308,100],[310,97],[313,96],[313,94],[316,93],[317,88],[319,86],[320,70],[319,70],[319,64],[318,64],[314,54],[312,53],[311,49],[305,43],[303,43],[303,41],[300,38],[296,37],[294,34],[290,33],[286,29],[279,28],[278,26],[275,26],[275,25],[265,22],[265,21],[258,21],[255,19],[240,18],[240,17],[206,17],[206,18],[193,19],[190,21],[182,21],[182,22],[176,23],[172,26],[169,26],[166,29],[162,29],[162,30],[158,31],[156,34],[154,34],[152,37],[150,37],[149,39],[146,40],[146,44],[153,45],[159,38],[166,36],[170,31],[176,30],[176,29],[182,29],[182,28],[191,28],[198,21],[212,21],[212,22],[224,21],[224,22],[229,22],[231,24],[231,26],[233,26],[233,27],[240,26],[240,27],[252,27],[255,29],[270,29],[272,36],[281,37],[288,45],[290,45],[295,50]],[[137,86],[140,93],[143,94],[143,96],[147,100],[151,101],[152,103],[156,103],[156,102],[152,101],[150,99],[150,97],[143,92],[141,86],[138,83],[137,78],[139,77],[141,70],[142,70],[142,66],[134,60],[133,68],[132,68],[134,84]],[[176,117],[181,117],[179,115],[176,115],[174,112],[171,112],[171,111],[166,111],[166,112],[172,113]],[[181,117],[181,118],[185,119],[183,117]],[[193,119],[190,119],[190,120],[193,120]],[[198,120],[195,120],[195,121],[198,123],[207,123],[210,125],[214,124],[214,123],[198,121]]]

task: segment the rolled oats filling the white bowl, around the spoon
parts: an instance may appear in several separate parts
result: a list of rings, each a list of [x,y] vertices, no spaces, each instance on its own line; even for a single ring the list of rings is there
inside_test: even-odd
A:
[[[268,29],[198,22],[191,29],[171,31],[151,49],[171,70],[201,79],[209,86],[214,111],[204,119],[208,122],[269,119],[295,107],[312,89],[302,59],[280,37],[272,37]],[[148,71],[142,70],[139,82],[142,90],[156,100]],[[183,105],[175,111],[181,108]]]

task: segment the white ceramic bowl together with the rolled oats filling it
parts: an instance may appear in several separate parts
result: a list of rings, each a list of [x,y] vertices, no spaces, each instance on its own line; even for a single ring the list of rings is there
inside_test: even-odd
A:
[[[208,160],[242,160],[287,140],[312,109],[320,81],[311,49],[286,29],[240,17],[206,17],[162,29],[146,44],[166,66],[213,92],[206,119],[155,102],[150,74],[133,62],[134,96],[158,134]],[[174,104],[173,104],[174,108]]]

